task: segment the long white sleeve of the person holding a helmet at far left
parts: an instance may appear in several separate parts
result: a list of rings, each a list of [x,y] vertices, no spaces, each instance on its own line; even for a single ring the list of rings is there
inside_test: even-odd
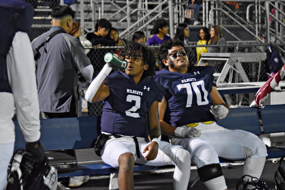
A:
[[[26,33],[15,34],[6,60],[19,125],[25,140],[35,142],[40,138],[40,109],[34,55]]]

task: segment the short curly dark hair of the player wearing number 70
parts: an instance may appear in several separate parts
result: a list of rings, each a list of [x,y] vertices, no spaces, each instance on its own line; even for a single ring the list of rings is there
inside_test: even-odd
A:
[[[162,69],[165,68],[166,70],[169,70],[168,67],[166,67],[164,63],[162,63],[162,60],[167,59],[168,50],[170,50],[173,46],[182,46],[184,48],[184,42],[177,39],[170,39],[168,41],[163,42],[157,49],[157,59]]]

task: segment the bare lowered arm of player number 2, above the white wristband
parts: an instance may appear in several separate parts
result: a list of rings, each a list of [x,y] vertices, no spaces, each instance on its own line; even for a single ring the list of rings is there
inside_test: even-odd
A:
[[[158,116],[158,101],[152,103],[148,109],[148,122],[149,122],[149,138],[158,138],[161,135],[159,116]]]

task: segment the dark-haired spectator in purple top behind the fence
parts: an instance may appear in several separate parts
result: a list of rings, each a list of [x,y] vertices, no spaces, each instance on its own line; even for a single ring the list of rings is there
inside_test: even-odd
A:
[[[153,30],[155,35],[149,38],[147,42],[148,46],[162,44],[164,41],[171,39],[166,35],[168,32],[168,22],[165,19],[157,19]]]

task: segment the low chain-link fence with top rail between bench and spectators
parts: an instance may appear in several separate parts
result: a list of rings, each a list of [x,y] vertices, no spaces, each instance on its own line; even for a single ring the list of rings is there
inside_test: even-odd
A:
[[[276,44],[275,46],[279,46],[280,48],[284,48],[285,44]],[[156,52],[156,49],[158,46],[149,46],[153,49],[153,52]],[[188,59],[190,62],[190,65],[197,64],[197,47],[215,47],[215,48],[225,48],[228,53],[249,53],[254,54],[257,52],[265,52],[267,49],[267,45],[263,43],[258,42],[247,42],[247,43],[228,43],[224,46],[210,46],[210,45],[204,45],[204,46],[197,46],[196,44],[189,44],[186,46],[186,51],[188,54]],[[91,60],[91,64],[94,68],[94,75],[93,77],[96,77],[97,74],[101,71],[103,68],[105,62],[103,60],[104,55],[107,52],[112,53],[118,53],[123,47],[100,47],[99,49],[91,49],[90,52],[87,54],[87,56]],[[198,48],[199,49],[199,48]],[[199,53],[199,52],[198,52]],[[282,52],[280,52],[281,56],[284,56]],[[216,64],[216,71],[221,72],[223,69],[224,64],[218,63]],[[249,79],[250,82],[256,82],[256,81],[267,81],[268,77],[266,76],[266,63],[265,61],[261,62],[260,69],[259,69],[259,63],[245,63],[242,64],[243,69],[245,70],[245,73]],[[157,62],[157,68],[156,70],[160,70]],[[260,71],[259,71],[260,70]],[[225,83],[229,82],[229,80],[232,80],[232,82],[238,83],[243,82],[241,77],[237,74],[237,72],[233,72],[233,75],[230,76],[230,73],[227,74],[227,77],[225,79]],[[79,114],[80,116],[93,116],[93,115],[101,115],[103,105],[102,103],[87,103],[87,101],[84,98],[85,92],[88,88],[88,84],[83,84],[81,89],[81,98],[80,103],[82,106],[82,112]],[[226,99],[227,98],[227,99]],[[232,94],[225,98],[226,102],[230,102],[231,105],[249,105],[249,94]],[[229,98],[231,101],[229,101]]]

